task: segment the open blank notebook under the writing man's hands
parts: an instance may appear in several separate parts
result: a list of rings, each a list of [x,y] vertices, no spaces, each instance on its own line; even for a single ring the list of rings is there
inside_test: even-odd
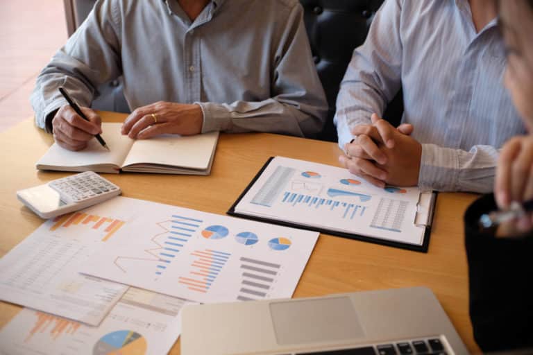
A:
[[[53,146],[37,162],[40,170],[96,171],[97,173],[167,173],[208,175],[219,132],[195,136],[160,135],[130,139],[120,133],[121,123],[103,123],[102,137],[110,151],[92,139],[84,150],[73,152]]]

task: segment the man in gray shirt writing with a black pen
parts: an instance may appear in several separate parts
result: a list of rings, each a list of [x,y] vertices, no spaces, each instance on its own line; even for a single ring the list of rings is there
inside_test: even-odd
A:
[[[101,0],[37,78],[37,125],[65,148],[101,132],[88,108],[124,78],[131,138],[276,132],[313,137],[327,103],[297,0]],[[84,121],[58,92],[83,106]]]

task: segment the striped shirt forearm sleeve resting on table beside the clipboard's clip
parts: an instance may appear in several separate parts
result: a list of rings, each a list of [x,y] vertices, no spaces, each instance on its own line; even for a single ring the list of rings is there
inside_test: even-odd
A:
[[[468,152],[422,144],[418,186],[423,190],[493,191],[500,150],[493,146],[473,146]]]

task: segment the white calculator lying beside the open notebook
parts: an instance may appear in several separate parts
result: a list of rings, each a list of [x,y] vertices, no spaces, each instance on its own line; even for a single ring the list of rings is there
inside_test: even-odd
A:
[[[120,188],[92,171],[17,191],[17,198],[41,218],[77,211],[120,195]]]

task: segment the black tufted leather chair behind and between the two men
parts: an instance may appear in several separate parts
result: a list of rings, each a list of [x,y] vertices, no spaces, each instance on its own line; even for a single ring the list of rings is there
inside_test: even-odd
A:
[[[328,98],[328,121],[319,139],[337,141],[333,123],[339,85],[352,58],[369,31],[375,12],[383,0],[300,0],[316,69]],[[403,114],[401,92],[384,113],[384,118],[398,125]]]

